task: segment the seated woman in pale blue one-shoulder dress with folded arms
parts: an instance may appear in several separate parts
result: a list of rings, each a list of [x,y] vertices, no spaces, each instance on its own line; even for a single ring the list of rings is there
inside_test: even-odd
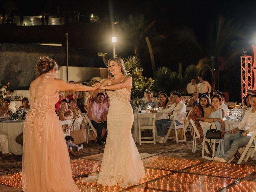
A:
[[[222,122],[223,122],[223,118],[224,116],[224,110],[220,109],[220,104],[221,104],[221,98],[219,95],[213,95],[212,96],[212,106],[209,106],[206,108],[205,113],[204,113],[204,122],[214,122],[214,124],[216,125],[216,128],[220,131],[222,131],[222,134],[224,135],[224,129],[222,129]],[[207,130],[209,130],[209,128],[204,128],[203,132],[204,135],[206,135]]]

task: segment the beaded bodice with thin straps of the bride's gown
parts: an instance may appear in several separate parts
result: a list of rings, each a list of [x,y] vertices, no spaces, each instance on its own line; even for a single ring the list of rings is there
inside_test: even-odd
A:
[[[109,82],[109,85],[111,85],[111,80]],[[107,90],[107,94],[110,98],[110,103],[111,103],[111,100],[113,99],[117,99],[119,101],[126,102],[126,103],[130,102],[131,92],[128,91],[126,88],[117,89],[117,90]]]

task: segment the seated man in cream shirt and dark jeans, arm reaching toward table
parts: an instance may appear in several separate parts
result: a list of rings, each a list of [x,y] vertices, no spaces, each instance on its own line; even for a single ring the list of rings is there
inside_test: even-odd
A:
[[[176,125],[181,125],[184,121],[184,114],[186,113],[186,105],[181,101],[181,94],[179,92],[174,92],[173,94],[174,104],[169,108],[158,110],[158,111],[150,111],[150,112],[158,112],[158,113],[171,113],[170,119],[161,119],[156,121],[157,128],[157,138],[156,140],[159,143],[163,143],[164,136],[166,134],[167,127],[170,127],[172,124],[172,120],[174,115],[177,114],[175,123]]]

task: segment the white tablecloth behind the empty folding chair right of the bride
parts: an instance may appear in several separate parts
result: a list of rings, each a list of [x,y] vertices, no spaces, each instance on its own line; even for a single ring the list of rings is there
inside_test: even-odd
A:
[[[135,142],[139,142],[139,130],[138,130],[138,116],[143,116],[144,113],[134,113],[134,121],[132,126],[132,137]],[[166,113],[156,113],[156,120],[160,119],[169,119],[168,114]],[[140,121],[141,125],[150,125],[152,121],[150,119],[142,119]]]

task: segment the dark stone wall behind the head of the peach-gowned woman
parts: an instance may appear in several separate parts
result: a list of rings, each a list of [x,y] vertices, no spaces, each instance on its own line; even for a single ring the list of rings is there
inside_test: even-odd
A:
[[[10,89],[26,90],[36,78],[35,64],[40,56],[50,56],[59,66],[66,66],[64,47],[41,46],[36,44],[0,44],[0,81],[8,80]],[[95,64],[94,59],[86,56],[81,49],[70,48],[69,66],[104,67]]]

